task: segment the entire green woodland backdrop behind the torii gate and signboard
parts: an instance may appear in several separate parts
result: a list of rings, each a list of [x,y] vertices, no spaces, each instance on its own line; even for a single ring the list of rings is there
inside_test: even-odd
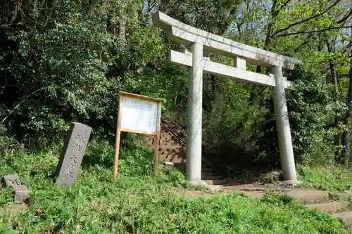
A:
[[[163,117],[182,131],[188,74],[168,63],[167,53],[185,46],[171,43],[151,25],[151,13],[161,9],[194,27],[301,59],[301,67],[285,74],[296,82],[294,91],[287,92],[294,152],[298,162],[330,163],[341,150],[339,134],[349,129],[341,120],[350,35],[329,27],[341,26],[337,19],[348,16],[347,5],[315,0],[6,0],[0,15],[1,124],[14,136],[11,141],[36,150],[45,142],[62,141],[73,121],[92,126],[94,136],[111,139],[122,90],[164,98]],[[332,51],[325,48],[328,41],[334,42]],[[209,51],[205,56],[234,65],[232,58]],[[335,66],[339,84],[329,84],[329,65]],[[247,70],[268,74],[266,67],[249,63]],[[0,141],[9,141],[6,137],[0,134]],[[272,89],[204,74],[203,140],[203,152],[222,164],[279,166]],[[134,164],[130,154],[129,149],[122,153],[126,160],[121,167]],[[138,158],[146,155],[137,152]],[[110,156],[99,160],[111,163]],[[151,164],[144,167],[128,173],[144,173]]]

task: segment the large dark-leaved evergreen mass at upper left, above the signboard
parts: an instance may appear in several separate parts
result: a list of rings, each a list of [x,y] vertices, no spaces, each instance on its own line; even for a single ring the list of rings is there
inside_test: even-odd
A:
[[[116,14],[124,4],[73,0],[39,7],[31,1],[16,8],[18,18],[0,32],[5,81],[0,116],[20,103],[6,119],[8,129],[34,142],[47,141],[46,136],[56,141],[67,129],[65,122],[78,120],[103,125],[97,133],[107,134],[115,126],[119,89],[139,92],[143,87],[156,93],[161,77],[150,79],[146,67],[153,70],[165,60],[160,30],[139,25],[134,17],[137,3],[126,4],[126,12]],[[122,17],[128,43],[122,43],[116,31]],[[17,23],[24,26],[14,28]]]

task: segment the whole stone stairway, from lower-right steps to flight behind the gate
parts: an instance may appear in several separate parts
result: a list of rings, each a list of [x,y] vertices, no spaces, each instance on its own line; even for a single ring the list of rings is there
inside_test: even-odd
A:
[[[151,150],[154,150],[155,136],[146,136],[146,141]],[[161,141],[159,148],[159,160],[164,162],[172,162],[174,167],[185,171],[186,166],[186,142],[175,131],[168,129],[167,126],[161,127]],[[219,186],[222,188],[221,193],[231,193],[234,190],[244,193],[245,195],[254,199],[260,199],[265,194],[265,191],[271,188],[259,185],[241,185],[241,186],[227,186],[228,180],[219,174],[212,164],[205,158],[202,158],[202,173],[201,179],[206,181],[208,185]],[[348,206],[346,199],[352,197],[352,193],[337,193],[334,194],[335,200],[331,200],[331,196],[326,191],[306,189],[306,188],[279,188],[279,193],[285,193],[295,200],[303,202],[309,209],[318,209],[329,212],[332,216],[341,219],[349,226],[352,226],[352,211]],[[199,191],[194,191],[197,193]],[[192,197],[200,197],[201,195],[192,195]]]

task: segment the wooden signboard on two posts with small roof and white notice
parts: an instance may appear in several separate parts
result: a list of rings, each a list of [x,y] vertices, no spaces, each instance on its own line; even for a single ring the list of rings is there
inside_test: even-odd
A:
[[[116,131],[115,166],[113,177],[118,175],[118,153],[121,131],[156,135],[154,174],[158,171],[161,103],[163,99],[134,93],[119,92],[118,128]]]

